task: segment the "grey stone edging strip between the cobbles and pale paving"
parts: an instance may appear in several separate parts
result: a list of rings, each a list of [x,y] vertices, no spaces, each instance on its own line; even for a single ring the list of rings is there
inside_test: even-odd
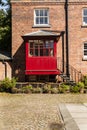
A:
[[[64,130],[79,130],[79,127],[77,126],[76,122],[70,115],[68,109],[66,108],[65,104],[59,104],[59,110],[61,119],[64,123]]]

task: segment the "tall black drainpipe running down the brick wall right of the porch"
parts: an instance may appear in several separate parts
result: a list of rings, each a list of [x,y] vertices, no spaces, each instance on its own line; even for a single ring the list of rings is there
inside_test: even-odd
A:
[[[69,77],[68,0],[65,0],[66,75]]]

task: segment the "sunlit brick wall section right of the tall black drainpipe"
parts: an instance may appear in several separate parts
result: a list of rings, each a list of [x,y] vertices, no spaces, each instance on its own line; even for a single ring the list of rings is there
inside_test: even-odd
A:
[[[87,61],[83,60],[83,43],[87,41],[87,28],[82,27],[82,9],[86,4],[69,5],[69,59],[70,64],[87,74]]]

